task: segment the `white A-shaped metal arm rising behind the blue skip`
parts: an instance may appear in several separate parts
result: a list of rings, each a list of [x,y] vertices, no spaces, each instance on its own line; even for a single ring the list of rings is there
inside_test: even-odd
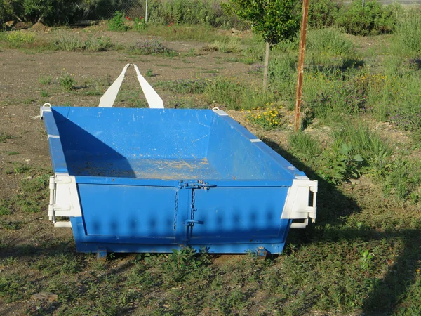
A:
[[[134,64],[127,64],[126,66],[124,66],[123,71],[121,72],[119,77],[117,77],[117,79],[101,97],[99,107],[112,107],[114,105],[114,101],[116,100],[117,94],[119,93],[121,83],[123,82],[126,71],[131,65],[133,65],[133,67],[135,68],[140,87],[142,88],[143,94],[145,95],[149,107],[154,109],[163,109],[163,101],[161,97],[158,93],[156,93],[154,88],[152,88],[152,86],[146,81],[142,74],[140,74],[138,66]]]

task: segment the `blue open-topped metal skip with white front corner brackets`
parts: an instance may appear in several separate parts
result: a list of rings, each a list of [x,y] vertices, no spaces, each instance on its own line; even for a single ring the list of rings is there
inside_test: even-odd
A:
[[[49,217],[81,252],[264,247],[316,218],[310,181],[223,111],[41,107]],[[69,217],[70,223],[57,217]]]

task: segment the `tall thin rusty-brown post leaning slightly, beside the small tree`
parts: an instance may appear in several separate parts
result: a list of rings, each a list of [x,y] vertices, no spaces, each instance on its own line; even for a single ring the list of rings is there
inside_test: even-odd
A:
[[[300,32],[300,55],[298,56],[298,79],[297,93],[295,95],[295,119],[294,130],[300,129],[301,94],[302,94],[302,73],[304,72],[305,36],[307,34],[307,15],[309,13],[309,0],[302,1],[302,18]]]

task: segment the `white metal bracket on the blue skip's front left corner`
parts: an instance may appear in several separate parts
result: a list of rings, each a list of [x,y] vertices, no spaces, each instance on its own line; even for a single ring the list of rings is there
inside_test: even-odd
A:
[[[48,219],[54,227],[72,228],[70,222],[57,222],[57,217],[82,216],[76,178],[68,173],[55,173],[50,177],[50,203],[48,204]]]

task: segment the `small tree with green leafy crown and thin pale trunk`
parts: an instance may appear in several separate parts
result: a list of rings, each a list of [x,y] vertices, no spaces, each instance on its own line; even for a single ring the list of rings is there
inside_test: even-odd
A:
[[[300,29],[300,11],[297,0],[229,0],[225,9],[251,22],[253,32],[266,42],[263,88],[267,88],[267,67],[270,46],[293,39]]]

